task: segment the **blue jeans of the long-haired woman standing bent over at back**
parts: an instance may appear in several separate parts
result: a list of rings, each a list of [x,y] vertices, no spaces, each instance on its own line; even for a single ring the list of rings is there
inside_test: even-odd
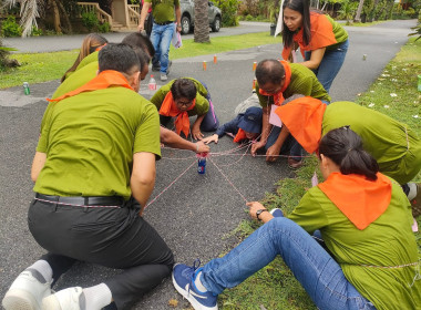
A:
[[[325,90],[329,93],[330,86],[338,74],[340,68],[343,64],[345,56],[347,54],[349,41],[345,41],[338,45],[335,50],[326,51],[325,55],[319,64],[319,68],[312,70],[317,79],[324,85]],[[310,60],[311,51],[305,52],[305,60]]]

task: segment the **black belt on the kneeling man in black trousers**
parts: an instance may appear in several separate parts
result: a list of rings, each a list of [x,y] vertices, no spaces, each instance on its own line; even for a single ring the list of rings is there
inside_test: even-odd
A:
[[[63,197],[63,196],[42,195],[42,194],[37,193],[35,199],[47,200],[47,202],[62,204],[62,205],[74,205],[74,206],[121,207],[124,204],[124,198],[121,196]]]

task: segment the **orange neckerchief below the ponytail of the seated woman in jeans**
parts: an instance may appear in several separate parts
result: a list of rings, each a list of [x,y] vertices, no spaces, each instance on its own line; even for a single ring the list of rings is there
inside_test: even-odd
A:
[[[331,173],[318,186],[360,230],[386,211],[392,197],[392,183],[381,173],[377,174],[377,180],[363,175]]]

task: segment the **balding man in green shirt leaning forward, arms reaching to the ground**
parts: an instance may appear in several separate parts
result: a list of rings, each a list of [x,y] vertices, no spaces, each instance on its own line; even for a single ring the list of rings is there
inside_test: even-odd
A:
[[[294,94],[312,96],[325,103],[330,102],[330,96],[315,73],[298,63],[270,59],[260,61],[256,68],[256,93],[264,114],[261,137],[251,146],[251,154],[265,146],[266,161],[275,162],[280,153],[289,152],[289,167],[298,168],[302,164],[302,148],[288,133],[269,123],[271,105],[280,105],[284,99]]]

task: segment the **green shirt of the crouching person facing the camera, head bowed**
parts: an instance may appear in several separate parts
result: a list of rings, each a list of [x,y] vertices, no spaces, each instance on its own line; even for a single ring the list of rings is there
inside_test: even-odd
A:
[[[183,78],[183,79],[192,80],[195,83],[196,89],[197,89],[196,104],[192,110],[187,111],[188,116],[206,114],[207,111],[209,111],[209,102],[206,99],[207,90],[205,89],[204,85],[202,85],[201,82],[198,82],[195,79],[192,79],[192,78]],[[171,86],[173,85],[174,82],[175,80],[170,81],[170,83],[167,83],[166,85],[163,85],[160,90],[156,91],[156,93],[151,99],[151,102],[155,104],[157,111],[160,111],[161,105],[164,102],[166,94],[171,91]]]

